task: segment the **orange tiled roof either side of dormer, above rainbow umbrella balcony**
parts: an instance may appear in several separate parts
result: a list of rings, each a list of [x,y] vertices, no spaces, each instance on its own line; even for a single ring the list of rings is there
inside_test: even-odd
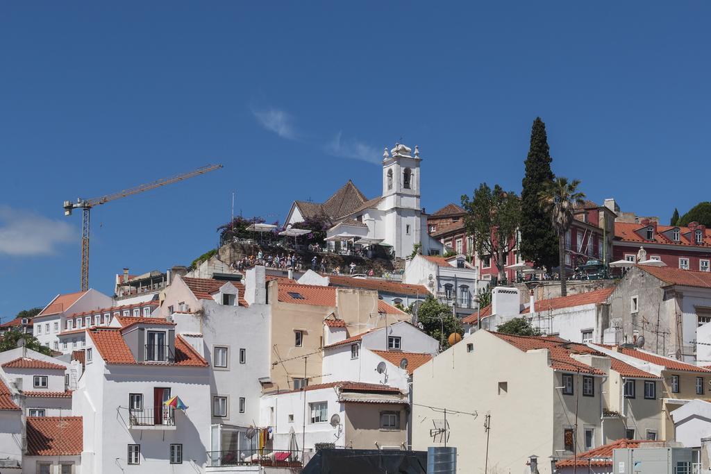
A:
[[[133,365],[138,363],[128,345],[124,342],[120,330],[100,328],[88,330],[87,333],[107,364]],[[144,364],[150,365],[151,362],[144,362]],[[181,335],[177,335],[175,339],[175,362],[166,365],[206,367],[208,362],[190,344],[186,343]]]

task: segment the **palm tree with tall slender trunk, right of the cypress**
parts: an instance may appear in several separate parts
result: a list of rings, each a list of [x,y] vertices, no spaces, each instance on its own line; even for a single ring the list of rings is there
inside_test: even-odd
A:
[[[560,265],[560,296],[567,295],[565,287],[565,233],[573,222],[573,210],[583,204],[585,194],[577,190],[580,181],[559,176],[538,194],[538,200],[545,212],[550,214],[553,230],[558,233],[558,264]]]

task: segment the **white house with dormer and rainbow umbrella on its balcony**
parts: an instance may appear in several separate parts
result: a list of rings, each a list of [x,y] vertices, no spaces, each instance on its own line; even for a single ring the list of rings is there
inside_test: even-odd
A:
[[[82,471],[204,472],[210,451],[208,362],[176,335],[174,323],[117,320],[121,328],[87,330],[86,370],[72,400],[83,419]],[[188,409],[165,406],[176,395]]]

